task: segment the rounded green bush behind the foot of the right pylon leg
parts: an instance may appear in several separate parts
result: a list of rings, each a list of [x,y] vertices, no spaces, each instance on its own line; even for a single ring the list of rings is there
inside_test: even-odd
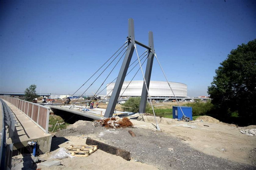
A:
[[[123,108],[126,112],[133,112],[138,113],[140,108],[140,97],[130,97],[124,104],[125,106]],[[149,104],[146,104],[146,113],[153,113],[152,108],[149,106]]]

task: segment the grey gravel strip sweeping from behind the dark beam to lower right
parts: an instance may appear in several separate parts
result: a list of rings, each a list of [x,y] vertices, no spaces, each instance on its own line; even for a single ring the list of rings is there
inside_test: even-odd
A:
[[[132,137],[128,130],[132,130],[136,137]],[[170,134],[150,129],[119,128],[113,130],[93,127],[92,122],[83,121],[82,126],[71,126],[55,134],[56,137],[77,135],[84,135],[131,151],[131,161],[140,161],[159,169],[256,169],[256,166],[204,154]]]

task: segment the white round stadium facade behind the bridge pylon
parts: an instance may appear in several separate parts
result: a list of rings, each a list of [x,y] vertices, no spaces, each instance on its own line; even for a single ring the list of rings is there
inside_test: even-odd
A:
[[[120,92],[122,96],[141,96],[143,81],[132,81],[128,88],[127,85],[130,81],[123,82],[123,86]],[[169,82],[174,94],[177,98],[182,99],[187,97],[187,85],[183,83],[177,82]],[[107,84],[107,95],[110,96],[112,94],[112,90],[115,86],[115,82]],[[126,89],[126,90],[125,90]],[[125,91],[124,91],[125,90]],[[109,94],[108,94],[109,93]],[[149,94],[151,97],[159,100],[171,100],[173,98],[173,93],[167,82],[161,81],[150,81],[149,84]]]

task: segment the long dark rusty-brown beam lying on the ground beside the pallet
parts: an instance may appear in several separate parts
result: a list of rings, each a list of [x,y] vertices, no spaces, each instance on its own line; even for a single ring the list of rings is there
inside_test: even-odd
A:
[[[131,152],[120,149],[118,147],[114,147],[108,144],[104,144],[102,142],[99,141],[95,141],[93,139],[87,138],[86,140],[86,144],[88,145],[98,145],[98,149],[105,151],[107,153],[116,155],[116,156],[120,156],[122,158],[124,158],[127,161],[130,161],[131,159]]]

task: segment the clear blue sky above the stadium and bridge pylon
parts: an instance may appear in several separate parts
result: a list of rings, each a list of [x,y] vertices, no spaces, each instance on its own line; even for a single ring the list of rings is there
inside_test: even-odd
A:
[[[255,1],[1,1],[0,92],[36,84],[38,93],[72,94],[126,41],[129,18],[141,43],[153,31],[168,80],[187,84],[188,96],[207,95],[230,51],[256,38]],[[110,70],[85,94],[96,92]],[[143,80],[141,72],[134,80]],[[165,81],[156,60],[151,80]]]

